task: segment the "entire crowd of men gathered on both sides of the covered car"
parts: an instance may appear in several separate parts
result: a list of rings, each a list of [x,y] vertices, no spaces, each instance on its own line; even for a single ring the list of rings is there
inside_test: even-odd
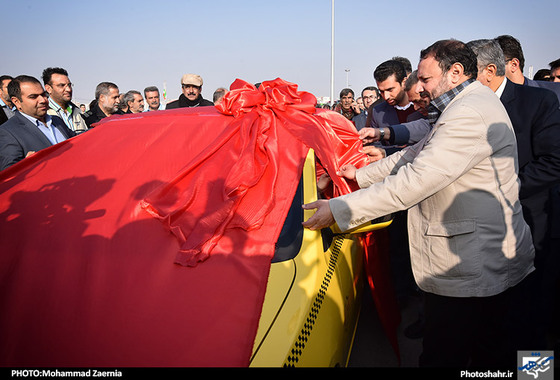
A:
[[[379,64],[376,86],[358,99],[343,89],[333,107],[371,164],[342,167],[361,189],[304,205],[317,210],[304,226],[344,230],[394,215],[397,290],[424,298],[422,366],[503,367],[513,349],[546,349],[558,333],[560,59],[541,80],[525,77],[524,64],[512,36],[442,40],[414,70],[398,56]],[[102,82],[84,111],[64,69],[47,68],[42,80],[1,77],[0,170],[105,117],[144,112],[145,102],[162,108],[157,87],[121,94]],[[202,86],[185,74],[166,109],[211,106],[227,92],[208,101]]]

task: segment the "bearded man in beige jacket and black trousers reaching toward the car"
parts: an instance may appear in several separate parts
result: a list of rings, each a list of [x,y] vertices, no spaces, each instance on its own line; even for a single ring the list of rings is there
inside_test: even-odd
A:
[[[306,228],[336,222],[343,231],[408,210],[412,270],[425,295],[425,367],[515,365],[503,321],[513,288],[534,270],[515,133],[477,72],[476,56],[460,41],[423,50],[417,91],[432,99],[432,130],[364,168],[342,167],[360,190],[303,206],[317,209]]]

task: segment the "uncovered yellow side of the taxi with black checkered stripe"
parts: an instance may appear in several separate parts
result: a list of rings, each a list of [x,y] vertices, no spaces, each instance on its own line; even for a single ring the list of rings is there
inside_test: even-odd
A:
[[[348,233],[336,226],[322,231],[302,227],[313,211],[301,205],[317,200],[314,153],[277,242],[252,367],[344,367],[348,363],[364,289],[361,234],[387,227],[368,223]]]

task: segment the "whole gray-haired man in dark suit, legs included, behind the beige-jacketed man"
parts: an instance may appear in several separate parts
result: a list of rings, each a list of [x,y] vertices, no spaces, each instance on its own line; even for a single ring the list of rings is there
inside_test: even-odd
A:
[[[505,58],[496,40],[472,41],[469,46],[477,55],[478,80],[500,96],[515,130],[521,182],[519,200],[535,246],[532,287],[522,290],[526,293],[520,298],[527,303],[516,308],[515,315],[537,330],[517,329],[514,335],[519,346],[543,346],[552,322],[549,318],[560,264],[558,252],[552,248],[551,234],[555,216],[551,190],[560,183],[560,103],[550,90],[507,79]]]

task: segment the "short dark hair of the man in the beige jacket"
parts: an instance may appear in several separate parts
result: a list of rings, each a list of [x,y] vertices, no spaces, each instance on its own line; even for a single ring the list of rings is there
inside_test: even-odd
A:
[[[420,52],[420,59],[433,57],[441,70],[446,73],[455,63],[463,66],[463,72],[470,78],[478,75],[476,55],[464,42],[458,40],[440,40]]]

